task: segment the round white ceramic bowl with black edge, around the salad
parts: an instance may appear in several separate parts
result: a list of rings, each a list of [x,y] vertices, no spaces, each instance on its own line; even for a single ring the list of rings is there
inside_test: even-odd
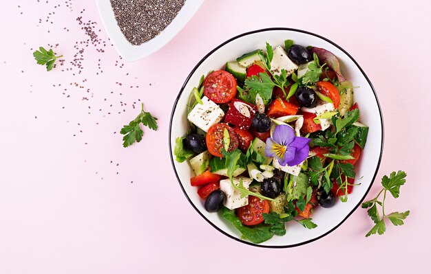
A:
[[[271,240],[262,244],[252,244],[251,242],[242,240],[240,233],[229,222],[224,221],[220,214],[209,213],[204,209],[204,203],[196,193],[198,188],[190,185],[190,178],[193,176],[193,172],[188,163],[178,163],[174,160],[175,139],[178,136],[184,136],[187,132],[187,99],[189,98],[191,89],[198,85],[202,75],[207,75],[211,70],[222,68],[227,61],[235,60],[235,58],[246,52],[251,52],[258,48],[264,49],[265,41],[275,46],[284,45],[284,40],[286,39],[292,39],[299,45],[313,45],[333,52],[341,63],[341,71],[343,71],[344,76],[352,81],[355,86],[359,86],[359,88],[355,89],[355,102],[359,104],[361,110],[361,122],[370,127],[366,147],[361,153],[361,159],[356,167],[357,178],[361,178],[357,180],[357,183],[360,182],[361,185],[355,186],[353,193],[348,196],[347,203],[337,201],[334,207],[328,209],[317,207],[312,215],[313,222],[318,225],[317,228],[311,230],[304,229],[304,227],[301,227],[296,222],[288,222],[285,236],[274,236]],[[213,49],[207,56],[204,56],[191,71],[178,94],[174,109],[172,110],[169,149],[172,165],[185,196],[196,211],[213,227],[218,229],[218,231],[240,242],[259,247],[295,247],[322,238],[331,231],[334,231],[364,200],[379,169],[383,151],[383,117],[379,101],[377,100],[377,94],[370,80],[368,80],[357,62],[353,60],[352,56],[344,49],[341,49],[341,47],[322,36],[302,30],[286,28],[256,30],[241,34],[222,43],[222,45]]]

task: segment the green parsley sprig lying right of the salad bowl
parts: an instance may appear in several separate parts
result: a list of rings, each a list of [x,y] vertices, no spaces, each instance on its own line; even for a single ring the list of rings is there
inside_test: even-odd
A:
[[[377,194],[376,198],[373,198],[370,201],[367,201],[365,203],[362,203],[362,208],[369,208],[368,209],[368,216],[370,216],[371,220],[375,222],[375,226],[372,227],[368,233],[366,233],[366,237],[371,236],[372,234],[379,233],[379,235],[382,235],[386,231],[386,224],[385,224],[385,218],[389,219],[390,222],[392,222],[393,225],[399,226],[403,225],[407,216],[410,214],[410,210],[406,212],[392,212],[390,214],[385,213],[385,201],[386,201],[386,194],[389,192],[392,194],[394,198],[399,197],[399,188],[401,185],[404,185],[406,183],[406,172],[403,172],[399,170],[398,172],[392,172],[390,176],[383,176],[381,179],[381,185],[383,185],[383,188],[380,190],[379,194]],[[379,201],[380,194],[383,193],[383,201]],[[379,211],[377,210],[377,205],[381,207],[381,217],[379,214]]]

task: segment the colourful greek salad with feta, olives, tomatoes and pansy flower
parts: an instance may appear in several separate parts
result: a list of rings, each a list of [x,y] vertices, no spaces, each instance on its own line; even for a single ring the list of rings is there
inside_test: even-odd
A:
[[[346,202],[358,185],[368,126],[355,88],[326,49],[266,43],[202,76],[176,161],[191,166],[204,208],[250,242],[284,236],[295,222],[313,229],[316,207]]]

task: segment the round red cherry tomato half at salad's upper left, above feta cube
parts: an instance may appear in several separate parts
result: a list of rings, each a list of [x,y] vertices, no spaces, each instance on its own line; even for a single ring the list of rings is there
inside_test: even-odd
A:
[[[204,79],[204,95],[217,104],[231,102],[236,95],[236,80],[227,71],[213,71]]]

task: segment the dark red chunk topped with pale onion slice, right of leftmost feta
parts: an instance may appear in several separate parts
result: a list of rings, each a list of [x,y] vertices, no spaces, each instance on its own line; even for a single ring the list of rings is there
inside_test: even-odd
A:
[[[249,129],[256,111],[257,107],[255,105],[234,98],[229,105],[229,111],[227,111],[224,122]]]

